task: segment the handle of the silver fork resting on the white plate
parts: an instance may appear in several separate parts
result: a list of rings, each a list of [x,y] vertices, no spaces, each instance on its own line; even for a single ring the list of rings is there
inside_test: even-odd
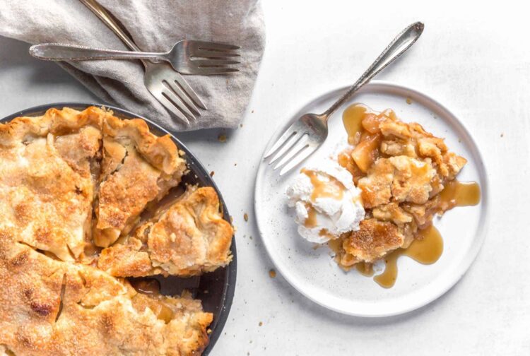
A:
[[[397,35],[392,42],[388,45],[384,51],[379,54],[379,57],[372,63],[370,68],[363,73],[362,76],[352,85],[352,87],[344,93],[336,102],[334,102],[329,109],[327,109],[321,116],[324,119],[329,119],[329,116],[333,114],[338,107],[341,107],[345,102],[350,100],[350,98],[359,90],[363,85],[368,83],[370,79],[382,71],[386,66],[391,64],[396,58],[404,54],[404,52],[409,49],[414,42],[418,40],[421,33],[423,32],[423,23],[416,22],[411,25],[408,25],[399,35]]]

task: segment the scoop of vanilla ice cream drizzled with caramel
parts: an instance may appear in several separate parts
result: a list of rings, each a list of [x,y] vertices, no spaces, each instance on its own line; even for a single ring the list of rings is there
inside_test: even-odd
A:
[[[319,185],[338,182],[335,186],[342,191],[341,197],[318,191],[315,194],[315,186],[307,172],[319,180]],[[322,244],[344,232],[359,230],[359,223],[365,217],[360,191],[353,184],[351,173],[331,159],[322,161],[318,167],[306,167],[285,193],[288,206],[295,208],[298,233],[310,242]],[[310,213],[313,216],[308,224]]]

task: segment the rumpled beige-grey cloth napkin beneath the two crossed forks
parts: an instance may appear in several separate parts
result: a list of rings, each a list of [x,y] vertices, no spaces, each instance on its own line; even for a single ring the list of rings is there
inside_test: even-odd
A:
[[[58,62],[104,102],[136,112],[175,131],[235,127],[242,119],[264,50],[257,0],[100,0],[143,51],[165,52],[179,40],[240,45],[240,72],[184,76],[208,107],[190,126],[172,117],[143,85],[139,60]],[[59,42],[128,49],[80,1],[0,0],[0,35],[25,42]],[[29,54],[28,54],[29,55]]]

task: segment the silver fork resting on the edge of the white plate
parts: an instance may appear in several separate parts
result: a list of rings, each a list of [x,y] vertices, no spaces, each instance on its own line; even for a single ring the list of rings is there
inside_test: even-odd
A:
[[[338,107],[341,107],[377,73],[391,64],[396,58],[409,49],[423,32],[423,23],[416,22],[397,35],[370,68],[344,93],[329,109],[322,114],[305,114],[288,127],[280,138],[267,151],[264,159],[271,157],[269,165],[279,160],[273,170],[281,168],[280,175],[292,170],[296,165],[309,157],[328,136],[328,119]]]

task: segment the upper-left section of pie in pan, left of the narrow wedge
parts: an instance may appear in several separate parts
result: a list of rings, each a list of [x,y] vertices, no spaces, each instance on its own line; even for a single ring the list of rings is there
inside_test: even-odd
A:
[[[49,109],[0,124],[0,212],[18,241],[63,260],[86,245],[100,150],[100,109]]]

